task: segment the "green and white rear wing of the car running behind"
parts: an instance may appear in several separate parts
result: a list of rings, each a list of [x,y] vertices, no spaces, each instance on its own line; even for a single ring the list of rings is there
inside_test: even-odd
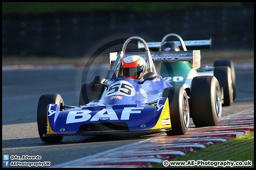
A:
[[[182,47],[180,41],[166,41],[166,42],[174,42],[179,47]],[[161,42],[147,42],[149,49],[156,51],[161,46]],[[212,38],[209,40],[188,40],[184,41],[185,46],[187,49],[210,49],[212,46]],[[138,41],[138,49],[145,49],[142,42]]]

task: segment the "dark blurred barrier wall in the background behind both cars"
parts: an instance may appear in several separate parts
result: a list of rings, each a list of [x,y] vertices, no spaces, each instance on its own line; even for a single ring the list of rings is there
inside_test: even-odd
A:
[[[84,56],[99,42],[118,40],[111,45],[120,51],[130,36],[161,41],[168,33],[211,37],[212,50],[253,49],[254,8],[2,15],[2,55]]]

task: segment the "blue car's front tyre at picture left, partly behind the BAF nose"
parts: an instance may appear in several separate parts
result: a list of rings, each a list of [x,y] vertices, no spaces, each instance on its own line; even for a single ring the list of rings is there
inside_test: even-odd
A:
[[[43,136],[46,134],[47,128],[47,106],[48,104],[58,104],[59,111],[63,111],[64,102],[62,97],[59,94],[45,94],[39,98],[37,105],[37,128],[38,133],[43,142],[60,142],[63,139],[63,136]]]

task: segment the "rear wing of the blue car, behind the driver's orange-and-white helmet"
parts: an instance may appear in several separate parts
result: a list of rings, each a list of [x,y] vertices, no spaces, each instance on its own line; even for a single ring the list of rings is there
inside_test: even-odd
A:
[[[110,53],[110,66],[113,67],[116,61],[118,52]],[[146,60],[145,52],[126,52],[124,53],[124,58],[132,55],[138,55]],[[193,51],[159,51],[150,52],[151,58],[155,64],[155,68],[158,73],[159,67],[161,67],[161,62],[177,62],[177,61],[191,61],[193,63],[193,68],[198,69],[201,66],[201,53],[200,50]],[[123,59],[124,59],[123,58]]]

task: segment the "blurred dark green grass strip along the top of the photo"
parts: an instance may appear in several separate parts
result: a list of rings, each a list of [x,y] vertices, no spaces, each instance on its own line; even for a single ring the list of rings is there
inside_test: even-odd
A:
[[[163,11],[187,7],[241,7],[241,2],[2,2],[5,13],[49,13],[56,11],[89,12],[90,10]]]

